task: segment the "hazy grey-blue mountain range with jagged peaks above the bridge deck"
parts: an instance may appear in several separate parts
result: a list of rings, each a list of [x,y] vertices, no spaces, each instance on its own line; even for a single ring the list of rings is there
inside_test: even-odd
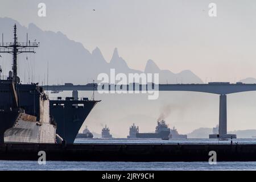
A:
[[[59,82],[73,82],[85,84],[97,79],[99,73],[110,73],[110,68],[115,68],[116,73],[142,73],[129,68],[126,61],[119,56],[117,48],[114,49],[112,59],[108,63],[99,48],[90,53],[81,43],[68,39],[61,32],[43,31],[35,24],[30,23],[28,27],[21,26],[19,22],[11,18],[0,18],[0,31],[5,35],[4,42],[13,41],[13,25],[16,23],[18,30],[18,42],[26,42],[28,39],[40,42],[36,49],[36,55],[23,54],[18,56],[18,75],[21,80],[30,77],[30,82],[42,83],[46,80],[47,62],[49,62],[49,84]],[[11,56],[1,55],[0,60],[4,74],[7,75],[11,69]],[[175,60],[173,60],[175,61]],[[159,73],[160,83],[203,83],[191,71],[172,73],[160,69],[152,60],[148,60],[144,69],[146,73]],[[29,76],[30,75],[30,76]]]

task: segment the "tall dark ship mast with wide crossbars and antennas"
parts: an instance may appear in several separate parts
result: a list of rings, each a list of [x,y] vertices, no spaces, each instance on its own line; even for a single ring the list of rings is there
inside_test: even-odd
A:
[[[14,42],[13,43],[4,43],[2,38],[2,43],[0,43],[0,53],[10,53],[13,55],[13,82],[14,84],[18,83],[17,75],[17,55],[20,53],[35,53],[34,48],[39,47],[39,43],[33,42],[17,42],[17,28],[14,24]]]

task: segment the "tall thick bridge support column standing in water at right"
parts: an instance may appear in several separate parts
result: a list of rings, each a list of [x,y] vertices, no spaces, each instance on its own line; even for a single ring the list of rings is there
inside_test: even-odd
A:
[[[219,123],[218,123],[218,134],[226,135],[226,95],[220,95],[220,111],[219,111]]]

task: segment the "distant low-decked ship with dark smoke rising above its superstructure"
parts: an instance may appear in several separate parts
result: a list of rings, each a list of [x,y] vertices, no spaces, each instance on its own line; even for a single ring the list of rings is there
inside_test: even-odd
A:
[[[168,140],[170,136],[170,128],[166,122],[162,119],[158,121],[158,125],[155,127],[155,133],[137,133],[136,138],[160,138]]]

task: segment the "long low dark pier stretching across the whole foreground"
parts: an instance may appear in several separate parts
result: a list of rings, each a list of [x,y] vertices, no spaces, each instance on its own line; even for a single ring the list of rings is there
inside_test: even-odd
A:
[[[209,151],[217,161],[256,161],[256,144],[0,144],[0,160],[208,162]]]

